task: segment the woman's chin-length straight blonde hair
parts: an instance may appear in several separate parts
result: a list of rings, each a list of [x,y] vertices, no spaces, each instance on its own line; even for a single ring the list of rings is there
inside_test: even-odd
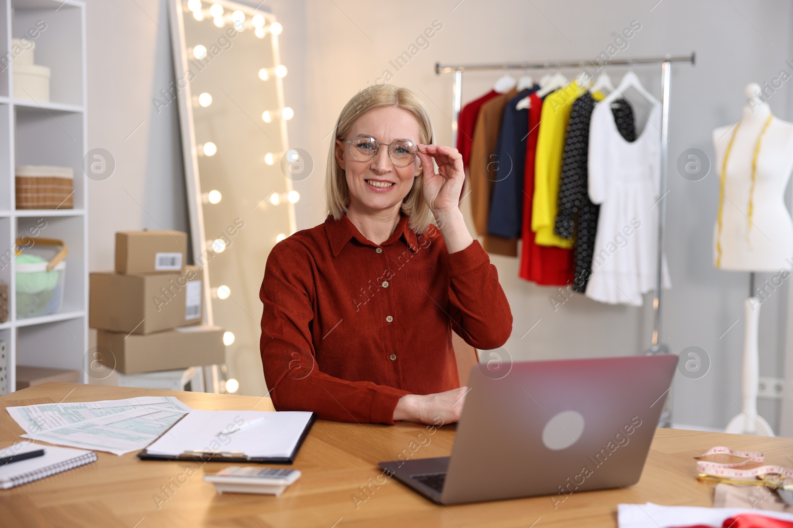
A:
[[[430,112],[424,103],[407,88],[393,85],[372,85],[356,93],[342,108],[334,128],[334,139],[344,140],[358,117],[374,108],[397,107],[410,112],[419,122],[419,142],[425,145],[435,143]],[[325,199],[328,215],[339,220],[347,214],[350,203],[350,189],[347,178],[335,157],[336,142],[331,141],[328,152],[328,169],[325,172]],[[408,216],[408,225],[416,233],[423,233],[430,223],[430,208],[424,200],[423,171],[413,180],[413,187],[402,200],[402,212]],[[434,170],[434,168],[430,168]]]

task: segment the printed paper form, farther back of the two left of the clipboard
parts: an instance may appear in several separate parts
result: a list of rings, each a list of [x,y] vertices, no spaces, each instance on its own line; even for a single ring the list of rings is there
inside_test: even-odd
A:
[[[167,408],[180,411],[182,414],[192,410],[173,396],[142,396],[125,400],[27,405],[25,407],[8,407],[7,409],[13,420],[30,435],[48,431],[54,427],[77,424],[98,416],[129,411],[133,408]]]

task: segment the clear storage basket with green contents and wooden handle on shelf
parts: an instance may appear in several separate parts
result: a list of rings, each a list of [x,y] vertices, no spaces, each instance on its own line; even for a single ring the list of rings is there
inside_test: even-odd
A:
[[[63,303],[63,279],[68,249],[55,238],[17,238],[17,247],[29,244],[15,257],[17,278],[17,319],[56,313]],[[49,260],[48,260],[49,259]]]

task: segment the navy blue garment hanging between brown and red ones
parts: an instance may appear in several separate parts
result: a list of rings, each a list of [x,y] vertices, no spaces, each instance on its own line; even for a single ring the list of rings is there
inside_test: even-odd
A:
[[[490,196],[488,233],[504,238],[520,237],[523,223],[523,169],[529,135],[529,111],[515,110],[518,101],[539,89],[534,85],[513,97],[504,107],[501,130],[496,143],[496,181]]]

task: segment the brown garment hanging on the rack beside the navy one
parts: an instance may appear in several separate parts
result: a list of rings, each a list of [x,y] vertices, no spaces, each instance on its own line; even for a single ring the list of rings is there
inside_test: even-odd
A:
[[[477,127],[473,130],[469,163],[473,225],[476,227],[477,235],[482,237],[482,247],[485,251],[505,256],[518,256],[518,239],[488,234],[490,195],[496,180],[496,165],[492,163],[492,155],[496,153],[504,106],[517,93],[517,90],[512,88],[482,105]]]

